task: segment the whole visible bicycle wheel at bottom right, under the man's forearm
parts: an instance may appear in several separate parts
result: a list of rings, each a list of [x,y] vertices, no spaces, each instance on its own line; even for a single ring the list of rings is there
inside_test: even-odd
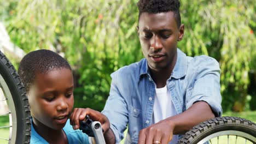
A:
[[[188,131],[178,143],[256,143],[256,124],[240,117],[217,117]]]

